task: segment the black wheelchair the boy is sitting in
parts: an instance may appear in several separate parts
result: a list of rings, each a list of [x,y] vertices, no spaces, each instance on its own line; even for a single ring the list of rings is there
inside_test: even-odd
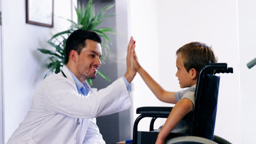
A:
[[[228,68],[226,63],[209,63],[200,71],[194,111],[188,113],[171,131],[165,141],[167,144],[230,143],[214,135],[220,80],[220,76],[215,75],[217,73],[233,73],[233,69]],[[136,113],[141,115],[133,125],[133,144],[155,143],[159,132],[154,130],[154,122],[157,118],[167,118],[171,110],[172,107],[139,107]],[[138,123],[145,117],[152,118],[149,131],[138,131]]]

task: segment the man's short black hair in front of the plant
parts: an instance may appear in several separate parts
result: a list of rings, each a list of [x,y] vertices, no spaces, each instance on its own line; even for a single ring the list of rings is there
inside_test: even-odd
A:
[[[78,29],[77,31],[74,31],[69,35],[65,47],[65,64],[68,63],[69,53],[71,52],[71,50],[77,51],[78,55],[80,55],[80,52],[86,46],[86,39],[94,40],[98,43],[101,43],[100,36],[92,31]]]

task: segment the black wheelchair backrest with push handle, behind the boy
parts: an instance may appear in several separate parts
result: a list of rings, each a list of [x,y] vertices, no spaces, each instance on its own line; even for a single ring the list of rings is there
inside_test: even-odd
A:
[[[213,140],[216,121],[219,80],[216,73],[232,73],[226,63],[210,63],[200,71],[195,91],[193,134]]]

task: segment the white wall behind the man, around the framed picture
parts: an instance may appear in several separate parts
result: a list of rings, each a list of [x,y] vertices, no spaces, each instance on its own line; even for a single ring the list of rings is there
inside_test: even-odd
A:
[[[76,1],[55,0],[56,15],[71,19]],[[31,98],[47,71],[47,56],[38,48],[50,48],[46,40],[51,32],[69,27],[69,22],[54,17],[54,28],[26,23],[25,1],[2,0],[2,59],[4,97],[4,139],[13,131],[30,109]]]

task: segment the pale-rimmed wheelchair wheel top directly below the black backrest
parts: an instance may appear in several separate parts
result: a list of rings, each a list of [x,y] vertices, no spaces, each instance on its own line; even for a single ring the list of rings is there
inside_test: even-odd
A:
[[[179,136],[170,139],[166,144],[218,144],[214,141],[197,136]]]

